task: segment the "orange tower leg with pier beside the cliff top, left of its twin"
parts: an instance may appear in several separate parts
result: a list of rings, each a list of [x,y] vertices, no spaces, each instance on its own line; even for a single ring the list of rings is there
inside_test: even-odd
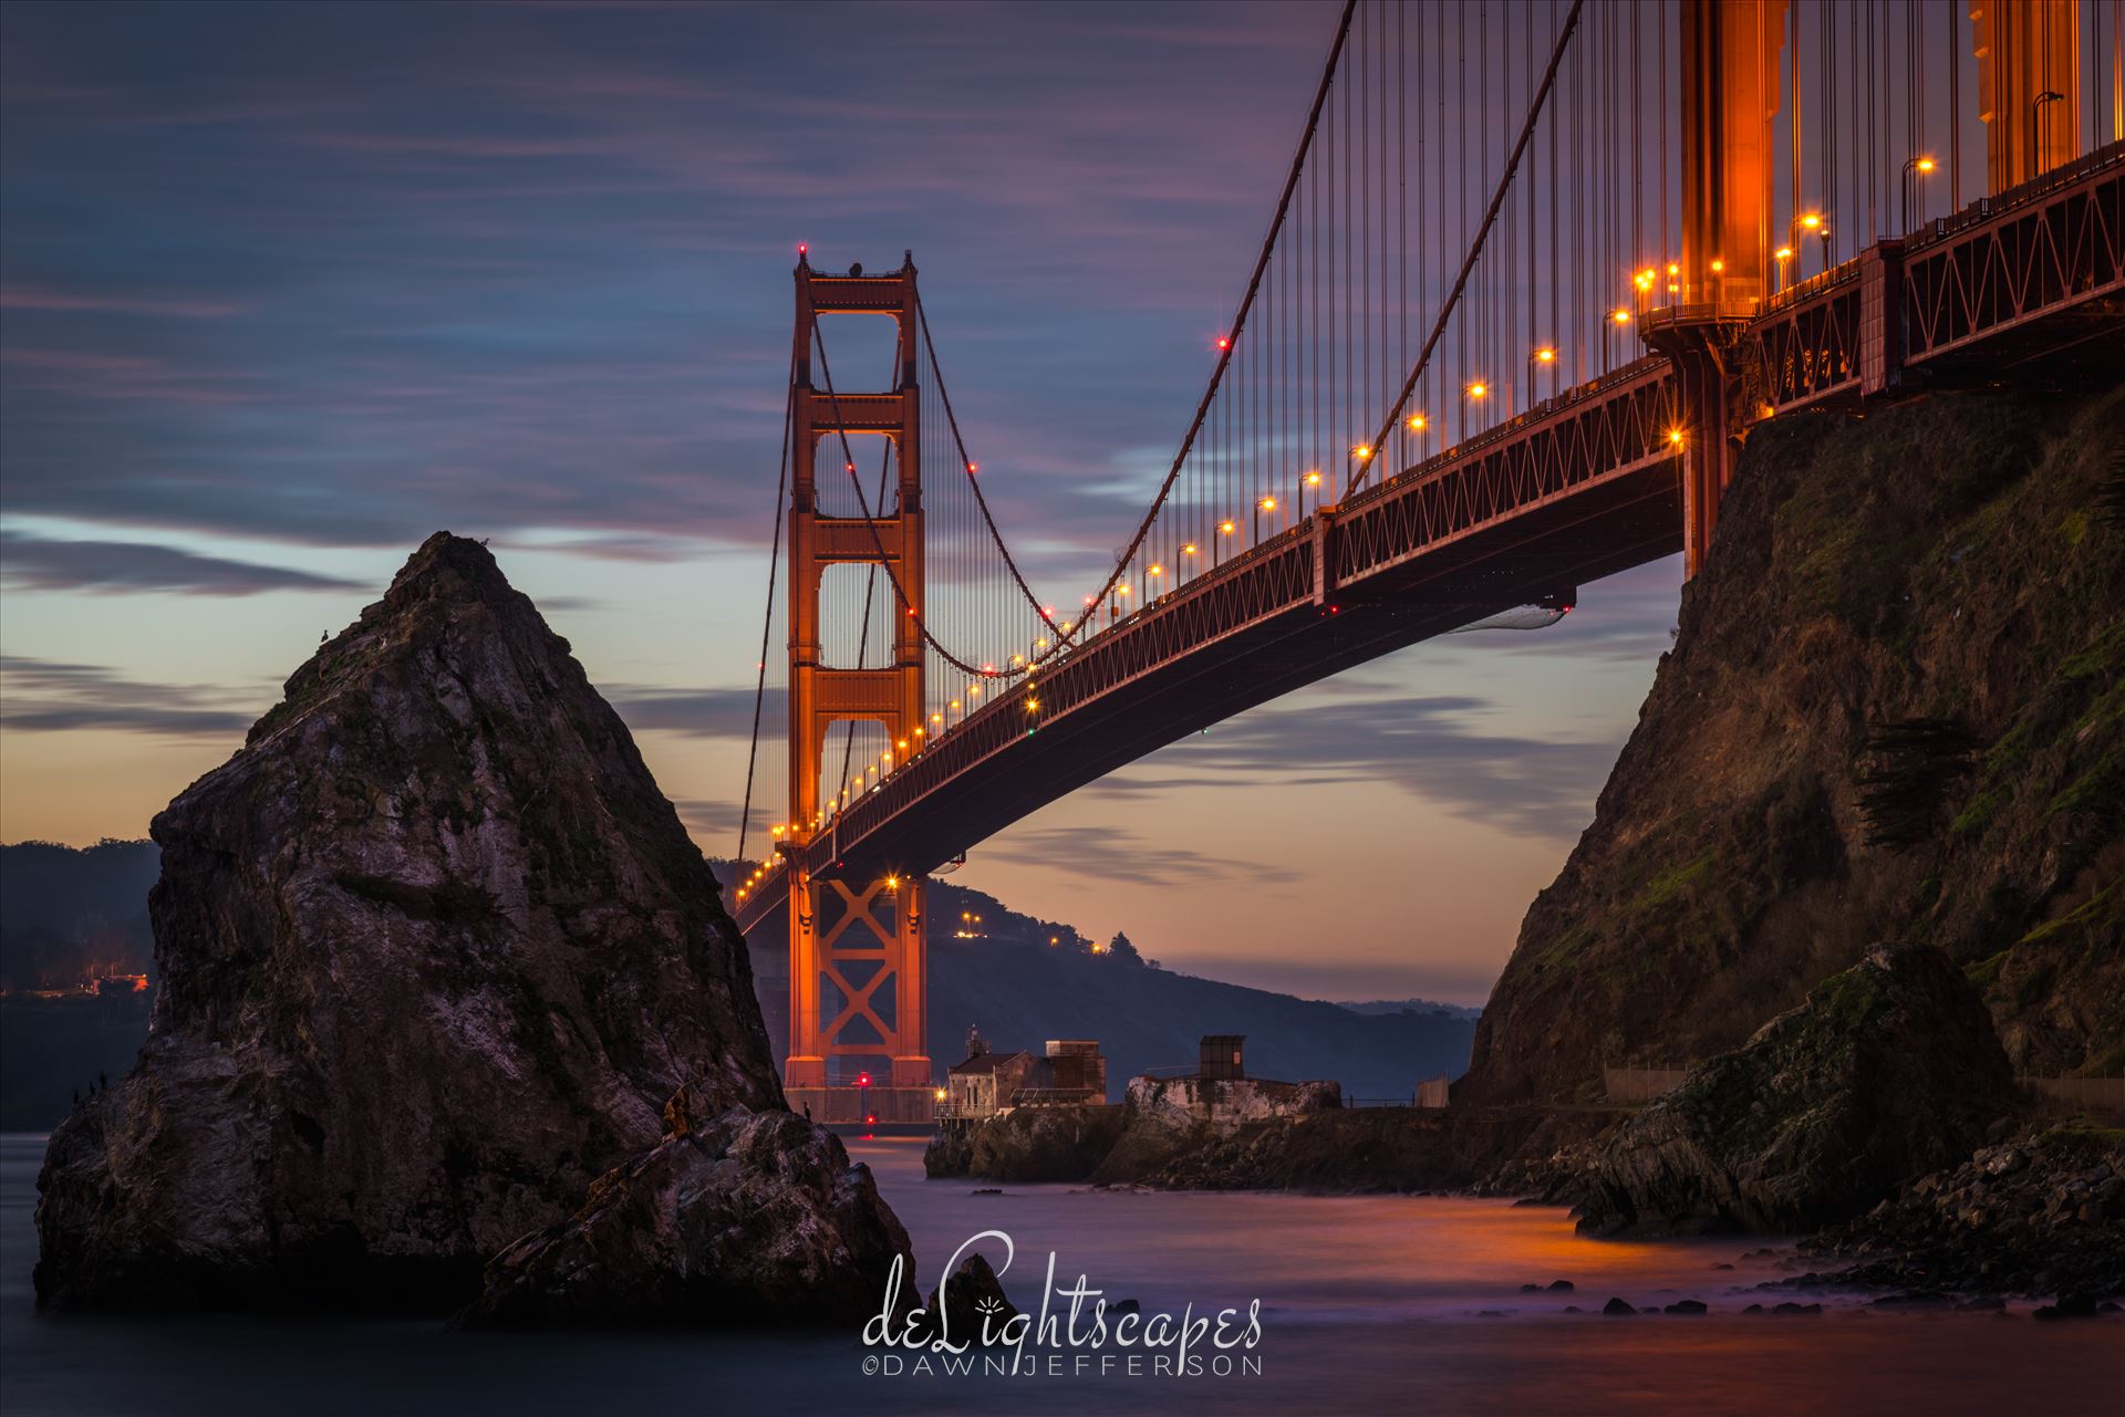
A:
[[[1647,321],[1677,374],[1683,574],[1696,576],[1734,472],[1726,348],[1770,293],[1772,130],[1787,0],[1683,4],[1683,300]]]

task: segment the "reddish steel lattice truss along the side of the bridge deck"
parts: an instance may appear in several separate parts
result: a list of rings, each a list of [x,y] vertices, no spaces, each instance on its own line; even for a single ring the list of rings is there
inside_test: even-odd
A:
[[[1902,242],[1804,280],[1738,327],[1732,359],[1753,365],[1757,416],[1857,395],[1902,368],[2125,293],[2125,144],[1936,221]],[[2106,325],[2104,329],[2114,329]],[[1666,359],[1649,357],[1500,423],[1300,520],[1169,591],[935,739],[820,833],[812,871],[831,871],[960,773],[1130,680],[1275,616],[1360,588],[1373,576],[1670,459],[1679,427]],[[1039,707],[1031,707],[1037,701]],[[971,841],[963,843],[971,846]],[[941,856],[939,856],[941,860]],[[929,869],[935,860],[895,863]],[[771,869],[740,924],[780,905]]]

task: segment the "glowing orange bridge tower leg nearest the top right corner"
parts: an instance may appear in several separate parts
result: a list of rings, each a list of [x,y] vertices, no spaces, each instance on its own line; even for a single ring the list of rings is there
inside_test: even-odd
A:
[[[1974,0],[1985,178],[1993,193],[2080,153],[2080,4]]]

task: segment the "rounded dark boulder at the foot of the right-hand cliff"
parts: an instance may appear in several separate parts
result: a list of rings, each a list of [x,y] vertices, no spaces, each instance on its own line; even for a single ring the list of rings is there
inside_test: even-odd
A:
[[[1991,1015],[1930,945],[1876,950],[1624,1122],[1583,1228],[1813,1230],[1953,1164],[2017,1105]]]

